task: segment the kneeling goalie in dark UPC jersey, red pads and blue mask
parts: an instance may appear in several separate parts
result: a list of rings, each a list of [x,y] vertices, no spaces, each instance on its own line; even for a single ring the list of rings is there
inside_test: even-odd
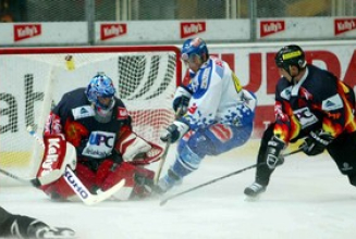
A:
[[[63,95],[47,120],[44,142],[37,177],[48,178],[40,188],[56,200],[77,199],[63,174],[58,174],[67,165],[91,193],[107,191],[124,179],[118,199],[147,197],[146,183],[152,185],[155,172],[144,166],[162,153],[161,147],[133,131],[128,111],[103,73],[87,87]],[[67,159],[67,143],[75,147],[75,159]]]

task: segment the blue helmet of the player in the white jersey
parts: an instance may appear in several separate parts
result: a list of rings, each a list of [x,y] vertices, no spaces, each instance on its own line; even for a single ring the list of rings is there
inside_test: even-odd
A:
[[[202,55],[209,58],[207,43],[199,37],[185,40],[181,50],[181,58],[183,61],[187,61],[195,54],[199,55],[201,59]]]

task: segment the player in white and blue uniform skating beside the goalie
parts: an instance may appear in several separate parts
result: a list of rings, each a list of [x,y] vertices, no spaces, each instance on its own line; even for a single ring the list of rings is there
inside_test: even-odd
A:
[[[161,135],[162,141],[180,141],[175,162],[156,186],[158,193],[180,184],[206,155],[243,146],[253,131],[256,97],[243,89],[228,63],[210,56],[201,38],[185,40],[181,59],[191,81],[176,89],[177,118]]]

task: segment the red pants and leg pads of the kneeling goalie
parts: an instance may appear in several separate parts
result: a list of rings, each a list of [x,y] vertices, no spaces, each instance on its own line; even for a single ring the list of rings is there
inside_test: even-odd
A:
[[[121,179],[125,179],[124,187],[132,187],[133,194],[137,197],[147,197],[148,191],[145,190],[143,185],[137,185],[135,181],[135,175],[154,180],[155,172],[135,166],[131,163],[122,162],[121,164],[114,164],[112,160],[105,160],[97,172],[93,172],[90,168],[77,162],[75,168],[76,176],[82,180],[84,186],[88,190],[98,189],[106,191],[112,186],[116,185]],[[41,186],[41,190],[46,192],[52,199],[65,200],[73,196],[75,192],[66,184],[64,177],[60,177],[57,181],[46,186]]]

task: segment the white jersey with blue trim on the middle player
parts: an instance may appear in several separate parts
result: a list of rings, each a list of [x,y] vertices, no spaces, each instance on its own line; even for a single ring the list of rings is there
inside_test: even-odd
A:
[[[244,90],[226,62],[210,56],[187,88],[193,95],[183,121],[192,129],[216,123],[238,125]]]

